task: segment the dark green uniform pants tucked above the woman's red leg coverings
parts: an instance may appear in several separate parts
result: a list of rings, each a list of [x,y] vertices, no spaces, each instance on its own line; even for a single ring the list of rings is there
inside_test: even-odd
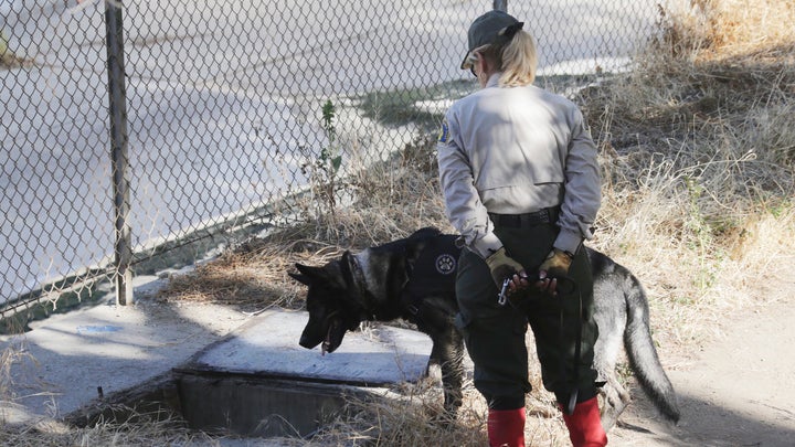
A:
[[[498,227],[495,233],[508,255],[521,263],[529,275],[534,275],[552,249],[558,227],[549,224]],[[486,263],[468,249],[462,252],[456,280],[459,306],[456,324],[475,364],[475,387],[490,408],[524,406],[524,394],[531,390],[524,343],[528,323],[536,337],[544,387],[564,405],[574,390],[577,402],[596,395],[596,371],[592,364],[598,331],[593,319],[593,277],[584,249],[575,255],[569,277],[576,284],[574,292],[551,297],[532,289],[517,297],[513,305],[499,306],[499,291]],[[575,365],[579,324],[582,343]]]

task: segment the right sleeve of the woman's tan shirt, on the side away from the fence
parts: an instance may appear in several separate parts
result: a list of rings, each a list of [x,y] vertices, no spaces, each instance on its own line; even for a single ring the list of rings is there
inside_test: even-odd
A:
[[[582,113],[574,109],[572,134],[565,160],[565,192],[554,246],[575,253],[583,240],[593,237],[593,224],[602,202],[602,181],[596,145],[585,128]]]

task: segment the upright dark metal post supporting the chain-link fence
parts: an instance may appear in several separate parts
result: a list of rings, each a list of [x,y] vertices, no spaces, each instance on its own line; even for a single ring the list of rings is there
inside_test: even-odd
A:
[[[129,158],[127,155],[127,93],[124,68],[121,0],[105,1],[107,71],[110,118],[110,170],[113,175],[116,267],[116,304],[132,304],[132,235],[129,216]]]

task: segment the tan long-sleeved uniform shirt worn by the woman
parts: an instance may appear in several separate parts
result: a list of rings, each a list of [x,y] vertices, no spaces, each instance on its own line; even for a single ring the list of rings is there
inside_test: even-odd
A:
[[[499,249],[487,213],[560,205],[556,248],[574,253],[602,200],[596,147],[571,100],[536,86],[485,88],[447,110],[437,143],[447,217],[481,257]]]

